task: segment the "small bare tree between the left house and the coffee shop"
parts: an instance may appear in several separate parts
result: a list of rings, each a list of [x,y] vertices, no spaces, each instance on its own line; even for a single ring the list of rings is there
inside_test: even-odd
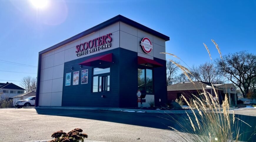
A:
[[[21,87],[26,90],[26,92],[36,91],[36,78],[31,76],[26,76],[21,79]]]

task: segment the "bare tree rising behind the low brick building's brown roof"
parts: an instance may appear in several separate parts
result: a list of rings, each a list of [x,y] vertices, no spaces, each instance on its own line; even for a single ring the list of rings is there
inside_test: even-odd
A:
[[[205,62],[199,66],[193,66],[191,73],[196,81],[203,81],[212,84],[224,83],[224,76],[218,72],[217,67],[210,62]]]

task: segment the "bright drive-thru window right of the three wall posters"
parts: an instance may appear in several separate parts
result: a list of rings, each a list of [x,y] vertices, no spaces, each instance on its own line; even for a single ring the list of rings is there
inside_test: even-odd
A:
[[[92,92],[105,92],[110,90],[110,68],[93,69]]]

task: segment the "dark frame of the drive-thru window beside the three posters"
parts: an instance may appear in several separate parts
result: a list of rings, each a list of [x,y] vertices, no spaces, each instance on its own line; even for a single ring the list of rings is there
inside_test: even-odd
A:
[[[94,69],[95,68],[109,68],[109,72],[108,73],[101,73],[101,74],[95,74],[94,75]],[[98,76],[98,87],[97,87],[97,92],[93,92],[93,78],[95,77],[95,76]],[[103,76],[107,76],[107,78],[108,78],[108,76],[109,76],[109,91],[99,91],[99,78],[101,77],[103,77]],[[103,84],[101,84],[101,86],[103,87]],[[91,93],[110,93],[111,92],[111,66],[95,66],[95,67],[93,67],[92,68],[92,85],[91,85],[91,89],[92,89],[92,91],[91,91]]]

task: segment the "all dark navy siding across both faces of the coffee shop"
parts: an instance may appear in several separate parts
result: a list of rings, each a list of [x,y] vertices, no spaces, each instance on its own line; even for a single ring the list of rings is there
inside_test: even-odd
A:
[[[92,69],[79,63],[92,57],[113,53],[113,62],[110,65],[110,91],[107,93],[92,93]],[[164,65],[153,68],[155,106],[164,106],[167,103],[166,61],[154,58]],[[66,73],[79,71],[79,85],[65,86],[63,82],[62,106],[77,107],[137,107],[138,65],[137,52],[123,48],[112,49],[89,57],[64,63],[64,81]],[[71,70],[73,67],[73,70]],[[88,84],[81,84],[81,71],[88,69]],[[104,95],[105,97],[101,97]],[[159,102],[161,99],[161,102]]]

